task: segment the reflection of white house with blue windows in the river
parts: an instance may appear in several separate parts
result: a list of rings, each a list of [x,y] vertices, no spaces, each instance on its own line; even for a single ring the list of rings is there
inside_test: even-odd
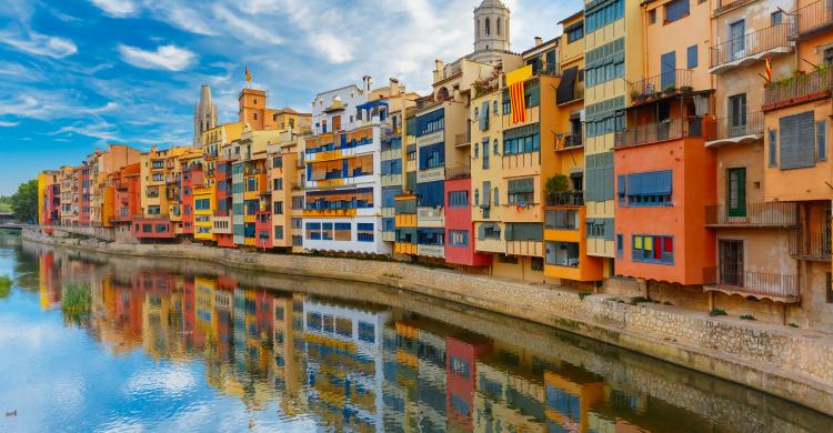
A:
[[[305,301],[310,409],[335,430],[383,425],[382,330],[390,314]]]

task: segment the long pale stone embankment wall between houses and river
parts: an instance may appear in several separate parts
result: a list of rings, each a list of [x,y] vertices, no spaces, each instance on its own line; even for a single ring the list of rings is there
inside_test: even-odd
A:
[[[387,284],[529,320],[741,383],[833,414],[833,336],[606,294],[533,285],[405,263],[251,253],[197,245],[24,239],[122,256],[194,259],[245,271]],[[371,300],[372,301],[372,300]]]

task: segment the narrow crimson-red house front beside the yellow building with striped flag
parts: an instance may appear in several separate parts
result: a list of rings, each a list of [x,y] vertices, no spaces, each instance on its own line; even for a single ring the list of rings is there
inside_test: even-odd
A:
[[[488,266],[492,264],[491,255],[474,251],[470,194],[468,170],[445,181],[445,261],[465,266]]]

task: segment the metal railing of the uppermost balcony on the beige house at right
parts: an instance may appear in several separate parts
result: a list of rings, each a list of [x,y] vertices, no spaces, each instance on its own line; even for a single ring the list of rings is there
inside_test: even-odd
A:
[[[790,47],[791,24],[774,24],[712,47],[711,67],[719,67],[743,58],[760,54],[779,47]]]

